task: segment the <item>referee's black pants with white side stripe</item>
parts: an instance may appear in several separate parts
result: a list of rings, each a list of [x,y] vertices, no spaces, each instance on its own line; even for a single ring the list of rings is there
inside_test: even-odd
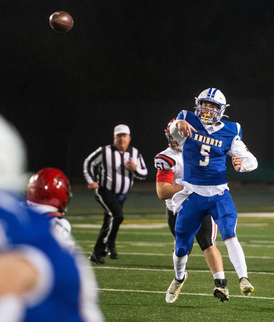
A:
[[[100,230],[94,252],[98,255],[106,255],[106,247],[115,247],[115,238],[120,223],[124,220],[123,204],[125,196],[119,196],[109,190],[100,187],[96,189],[95,200],[98,201],[105,210],[104,223]]]

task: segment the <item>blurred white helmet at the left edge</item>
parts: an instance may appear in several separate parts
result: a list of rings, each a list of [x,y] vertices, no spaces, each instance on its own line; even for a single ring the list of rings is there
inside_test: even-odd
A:
[[[16,128],[0,115],[0,189],[23,191],[27,185],[26,148]]]

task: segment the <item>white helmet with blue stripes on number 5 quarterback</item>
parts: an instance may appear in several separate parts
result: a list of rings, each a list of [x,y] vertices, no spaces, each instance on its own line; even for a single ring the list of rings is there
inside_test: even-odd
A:
[[[202,123],[216,123],[220,121],[222,117],[228,118],[224,113],[225,108],[229,106],[229,104],[226,104],[225,96],[220,90],[210,87],[207,90],[202,91],[198,98],[195,97],[195,99],[195,115],[200,118]],[[210,115],[202,116],[201,105],[203,102],[209,102],[211,104],[214,103],[217,105],[218,111],[212,118],[210,118]]]

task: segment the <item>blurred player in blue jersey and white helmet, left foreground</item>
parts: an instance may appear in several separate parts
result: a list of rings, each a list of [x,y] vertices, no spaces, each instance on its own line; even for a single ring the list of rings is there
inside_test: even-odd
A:
[[[0,145],[0,321],[103,321],[88,260],[59,243],[49,219],[11,193],[23,182],[24,147],[1,116]]]

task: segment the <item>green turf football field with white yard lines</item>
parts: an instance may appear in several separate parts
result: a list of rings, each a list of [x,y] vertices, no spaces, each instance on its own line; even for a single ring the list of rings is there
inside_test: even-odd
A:
[[[244,193],[237,192],[236,207],[259,211],[260,207],[273,206],[267,195],[263,196],[267,200],[264,204],[250,195],[243,199]],[[102,224],[102,209],[89,196],[90,193],[76,194],[67,216],[86,256],[93,250]],[[241,296],[238,277],[218,232],[217,246],[228,279],[229,302],[221,303],[213,297],[213,277],[195,240],[187,262],[189,277],[179,298],[167,304],[165,292],[174,270],[173,237],[166,224],[164,203],[152,191],[133,191],[130,198],[117,236],[119,259],[107,256],[104,265],[93,265],[105,321],[274,321],[274,213],[244,213],[238,218],[237,235],[255,287],[252,297]]]

